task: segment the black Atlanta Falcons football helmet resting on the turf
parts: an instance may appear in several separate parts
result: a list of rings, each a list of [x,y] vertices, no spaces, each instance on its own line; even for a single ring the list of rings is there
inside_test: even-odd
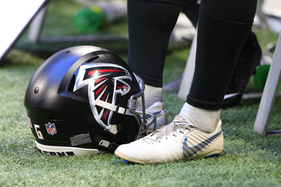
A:
[[[113,153],[155,122],[146,124],[135,111],[142,97],[145,113],[143,92],[143,81],[109,50],[76,46],[55,53],[37,69],[24,98],[37,149],[58,156]]]

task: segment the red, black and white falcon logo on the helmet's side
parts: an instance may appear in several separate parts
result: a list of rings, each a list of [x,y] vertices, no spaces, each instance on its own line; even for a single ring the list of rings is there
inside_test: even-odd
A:
[[[80,66],[73,91],[88,84],[89,102],[93,115],[106,129],[112,129],[110,121],[113,111],[97,106],[95,101],[98,99],[115,105],[116,94],[125,95],[130,90],[130,86],[124,79],[132,81],[128,70],[119,65],[96,63]]]

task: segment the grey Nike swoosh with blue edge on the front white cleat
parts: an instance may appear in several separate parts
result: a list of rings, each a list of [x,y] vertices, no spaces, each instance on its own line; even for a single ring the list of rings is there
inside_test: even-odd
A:
[[[193,155],[195,155],[198,151],[206,147],[210,142],[212,142],[215,138],[217,138],[222,133],[222,130],[218,132],[217,134],[211,136],[210,138],[202,141],[201,143],[198,143],[196,146],[189,147],[187,145],[187,136],[184,138],[184,142],[182,143],[182,151],[185,158],[189,158]]]

